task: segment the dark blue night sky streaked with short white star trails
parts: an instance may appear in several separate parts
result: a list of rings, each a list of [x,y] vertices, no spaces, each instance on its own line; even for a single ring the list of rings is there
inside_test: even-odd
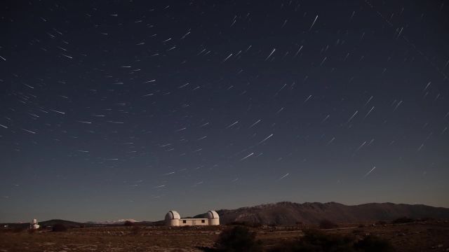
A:
[[[448,1],[2,1],[0,221],[449,207]]]

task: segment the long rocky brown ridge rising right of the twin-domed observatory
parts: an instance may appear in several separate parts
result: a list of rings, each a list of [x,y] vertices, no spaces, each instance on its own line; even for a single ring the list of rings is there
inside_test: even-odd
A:
[[[391,221],[396,218],[449,219],[449,209],[422,204],[369,203],[347,206],[336,202],[293,203],[279,202],[255,207],[217,211],[220,223],[260,223],[266,225],[317,224],[323,219],[336,223],[361,223],[365,221]],[[199,215],[196,217],[201,217]]]

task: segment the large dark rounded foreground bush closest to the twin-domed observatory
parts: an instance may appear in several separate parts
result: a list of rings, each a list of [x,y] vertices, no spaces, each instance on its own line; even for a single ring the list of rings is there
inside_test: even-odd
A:
[[[215,246],[218,251],[227,252],[262,251],[261,242],[255,239],[255,232],[250,232],[248,228],[242,226],[224,230],[218,237]]]

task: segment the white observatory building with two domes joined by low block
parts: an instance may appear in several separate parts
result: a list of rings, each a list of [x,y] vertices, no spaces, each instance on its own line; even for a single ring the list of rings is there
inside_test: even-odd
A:
[[[172,227],[186,225],[220,225],[220,217],[216,211],[208,211],[207,218],[181,218],[177,211],[168,211],[166,214],[166,225]]]

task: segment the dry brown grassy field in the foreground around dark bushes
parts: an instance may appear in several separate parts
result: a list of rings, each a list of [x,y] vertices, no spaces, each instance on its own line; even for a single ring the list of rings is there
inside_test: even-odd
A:
[[[202,251],[212,247],[217,227],[100,227],[72,228],[67,232],[0,232],[0,251]],[[301,237],[297,227],[253,229],[264,248]],[[397,251],[449,251],[449,223],[432,221],[396,225],[344,225],[323,232],[361,238],[377,235],[388,239]]]

